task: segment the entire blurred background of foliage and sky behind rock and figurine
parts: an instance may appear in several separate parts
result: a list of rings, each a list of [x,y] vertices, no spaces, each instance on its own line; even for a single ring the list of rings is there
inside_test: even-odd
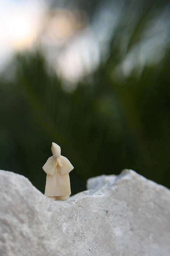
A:
[[[1,0],[0,169],[44,192],[51,142],[89,177],[170,187],[169,1]]]

